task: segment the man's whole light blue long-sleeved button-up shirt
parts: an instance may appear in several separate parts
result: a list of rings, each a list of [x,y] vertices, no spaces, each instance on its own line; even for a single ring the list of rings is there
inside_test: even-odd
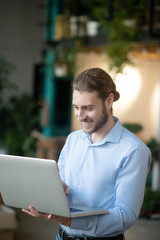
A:
[[[138,219],[151,163],[148,147],[116,124],[101,141],[92,144],[83,130],[71,133],[62,149],[60,176],[71,189],[69,200],[108,209],[98,216],[73,218],[68,234],[115,236]]]

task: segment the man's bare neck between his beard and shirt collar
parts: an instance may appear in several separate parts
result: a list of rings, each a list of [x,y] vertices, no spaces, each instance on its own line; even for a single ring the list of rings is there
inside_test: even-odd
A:
[[[110,132],[110,130],[114,127],[116,121],[114,117],[111,115],[108,117],[107,122],[104,126],[97,132],[91,134],[91,141],[92,143],[98,142],[106,137],[106,135]]]

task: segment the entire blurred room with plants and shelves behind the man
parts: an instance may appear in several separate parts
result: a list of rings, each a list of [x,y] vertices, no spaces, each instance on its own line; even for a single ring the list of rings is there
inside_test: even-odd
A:
[[[112,76],[121,95],[114,103],[114,115],[152,151],[138,222],[141,237],[133,234],[134,229],[127,239],[156,240],[160,0],[1,0],[0,153],[57,160],[67,135],[81,128],[72,112],[71,82],[90,67],[100,67]],[[17,209],[5,211],[6,225],[0,211],[0,239],[41,239],[35,235],[40,228],[53,231],[53,236],[56,233],[53,224],[31,220]],[[148,229],[157,235],[149,235]],[[49,240],[48,234],[45,239]]]

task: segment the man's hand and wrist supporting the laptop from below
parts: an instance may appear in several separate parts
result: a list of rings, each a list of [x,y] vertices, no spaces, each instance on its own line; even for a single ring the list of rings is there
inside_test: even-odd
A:
[[[50,221],[56,222],[58,224],[66,225],[66,226],[70,226],[71,221],[72,221],[71,218],[38,212],[33,206],[29,206],[29,210],[22,209],[22,211],[32,217],[44,218],[46,220],[50,220]]]

